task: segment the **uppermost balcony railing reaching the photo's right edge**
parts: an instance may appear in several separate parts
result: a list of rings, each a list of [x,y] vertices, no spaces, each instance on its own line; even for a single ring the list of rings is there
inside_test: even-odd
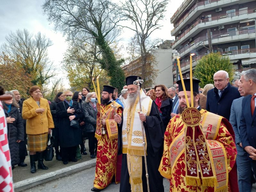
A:
[[[228,13],[228,14],[223,14],[223,15],[219,15],[219,16],[215,16],[215,17],[210,17],[210,18],[205,18],[204,20],[198,19],[196,20],[196,22],[194,24],[192,24],[188,29],[186,29],[182,34],[180,34],[180,36],[178,36],[175,40],[175,42],[173,44],[175,44],[177,41],[179,41],[182,37],[184,37],[188,32],[190,32],[190,30],[192,30],[193,28],[195,28],[198,24],[200,23],[207,23],[209,21],[213,21],[213,20],[219,20],[219,19],[223,19],[223,18],[228,18],[228,17],[235,17],[238,15],[243,15],[243,14],[251,14],[251,13],[255,13],[254,12],[255,8],[253,9],[249,9],[247,10],[247,12],[244,11],[236,11],[236,12],[232,12],[232,13]]]

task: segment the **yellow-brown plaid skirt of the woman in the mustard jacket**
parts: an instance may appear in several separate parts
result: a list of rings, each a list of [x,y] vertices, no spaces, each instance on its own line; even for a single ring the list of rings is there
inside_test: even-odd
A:
[[[44,151],[47,146],[48,133],[28,134],[28,151]]]

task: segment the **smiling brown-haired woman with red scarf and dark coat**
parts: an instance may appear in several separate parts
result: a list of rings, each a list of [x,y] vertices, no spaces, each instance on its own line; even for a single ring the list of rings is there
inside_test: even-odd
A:
[[[154,90],[156,92],[155,102],[164,123],[164,127],[166,128],[171,118],[172,99],[168,97],[167,88],[164,85],[156,85]]]

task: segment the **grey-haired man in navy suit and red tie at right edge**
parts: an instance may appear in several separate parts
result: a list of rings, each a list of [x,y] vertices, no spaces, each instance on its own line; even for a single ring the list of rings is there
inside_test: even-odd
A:
[[[247,94],[242,101],[242,115],[239,126],[241,144],[249,154],[252,170],[256,178],[256,69],[243,71],[240,81],[244,94]]]

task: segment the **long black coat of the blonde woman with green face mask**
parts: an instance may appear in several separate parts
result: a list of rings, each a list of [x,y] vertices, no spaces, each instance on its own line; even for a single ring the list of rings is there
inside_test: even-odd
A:
[[[65,107],[64,107],[65,105]],[[57,117],[60,118],[59,134],[60,134],[60,147],[74,147],[82,143],[81,131],[79,128],[70,126],[69,116],[76,115],[74,120],[78,120],[83,116],[79,110],[78,103],[73,101],[73,106],[70,108],[75,109],[75,113],[68,113],[68,103],[65,101],[59,102],[56,107]]]

